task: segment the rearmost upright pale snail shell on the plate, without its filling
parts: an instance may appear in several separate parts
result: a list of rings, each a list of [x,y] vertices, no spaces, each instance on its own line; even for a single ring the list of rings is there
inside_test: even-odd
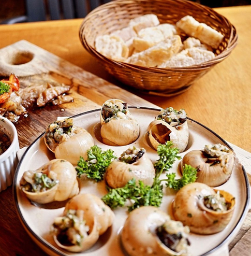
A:
[[[102,105],[102,108],[109,102],[124,103],[120,99],[109,99]],[[117,118],[105,122],[102,117],[102,108],[100,111],[100,134],[104,144],[109,146],[125,146],[133,143],[139,137],[139,124],[132,117],[129,110],[127,110],[126,119]]]

